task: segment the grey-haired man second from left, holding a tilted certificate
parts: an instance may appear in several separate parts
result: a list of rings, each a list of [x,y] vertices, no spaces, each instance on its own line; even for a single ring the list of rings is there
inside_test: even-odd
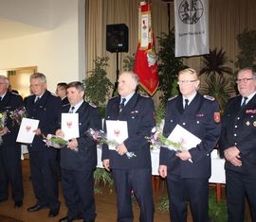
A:
[[[35,73],[30,76],[32,95],[27,97],[28,118],[39,120],[35,137],[28,145],[30,174],[37,203],[27,209],[36,212],[48,207],[49,217],[58,215],[60,201],[58,200],[58,178],[56,171],[57,150],[47,147],[43,136],[54,134],[59,124],[61,113],[61,98],[46,90],[46,76]]]

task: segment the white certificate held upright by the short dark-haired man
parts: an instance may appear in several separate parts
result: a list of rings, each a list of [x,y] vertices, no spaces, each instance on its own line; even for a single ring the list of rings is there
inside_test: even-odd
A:
[[[62,113],[64,140],[79,138],[79,113]]]

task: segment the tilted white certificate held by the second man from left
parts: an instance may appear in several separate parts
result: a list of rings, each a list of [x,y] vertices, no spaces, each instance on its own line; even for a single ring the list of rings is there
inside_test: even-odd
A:
[[[38,125],[37,119],[22,118],[16,142],[31,144],[35,136],[33,131],[38,128]]]

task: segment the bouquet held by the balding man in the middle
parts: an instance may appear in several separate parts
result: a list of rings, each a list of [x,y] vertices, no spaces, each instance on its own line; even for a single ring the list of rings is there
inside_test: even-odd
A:
[[[119,145],[119,143],[116,142],[115,140],[107,139],[106,133],[104,133],[102,130],[95,130],[93,128],[88,128],[88,130],[85,132],[85,134],[99,144],[115,145],[115,146]],[[136,154],[134,152],[126,152],[125,154],[128,159],[136,157]]]

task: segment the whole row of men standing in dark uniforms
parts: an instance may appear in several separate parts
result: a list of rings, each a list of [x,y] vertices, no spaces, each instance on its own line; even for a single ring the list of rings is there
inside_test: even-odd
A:
[[[245,196],[248,196],[252,221],[256,221],[255,71],[252,68],[240,70],[236,82],[240,94],[229,100],[221,121],[214,98],[197,92],[200,81],[196,72],[188,68],[178,74],[181,94],[167,102],[163,134],[168,137],[175,126],[180,125],[201,142],[179,152],[160,149],[159,175],[167,178],[172,222],[187,221],[188,202],[193,221],[208,221],[210,152],[218,142],[226,158],[229,221],[244,221]],[[132,191],[140,208],[139,221],[154,221],[150,144],[145,137],[151,135],[155,126],[155,106],[150,97],[136,93],[137,84],[137,75],[133,72],[120,74],[119,95],[108,101],[105,113],[105,121],[126,121],[128,128],[128,138],[115,150],[108,145],[102,146],[103,166],[112,172],[114,179],[119,222],[134,221]],[[8,87],[8,78],[1,76],[0,111],[13,111],[23,105],[21,96],[10,93]],[[32,94],[27,97],[27,117],[40,122],[32,144],[28,145],[37,202],[27,211],[36,212],[47,207],[48,216],[58,215],[57,150],[46,148],[43,136],[50,133],[63,137],[61,113],[77,112],[80,137],[69,140],[61,149],[62,184],[68,212],[59,221],[83,219],[92,222],[96,218],[93,172],[97,164],[97,143],[84,132],[88,128],[101,129],[101,118],[97,108],[83,100],[85,90],[81,82],[71,82],[64,88],[68,103],[63,100],[62,105],[60,97],[46,90],[44,74],[35,73],[30,77]],[[107,132],[105,123],[103,128]],[[14,206],[21,207],[24,194],[20,149],[13,139],[17,131],[18,126],[11,120],[0,130],[3,140],[0,145],[0,201],[8,198],[10,182]],[[131,153],[133,155],[128,155]]]

